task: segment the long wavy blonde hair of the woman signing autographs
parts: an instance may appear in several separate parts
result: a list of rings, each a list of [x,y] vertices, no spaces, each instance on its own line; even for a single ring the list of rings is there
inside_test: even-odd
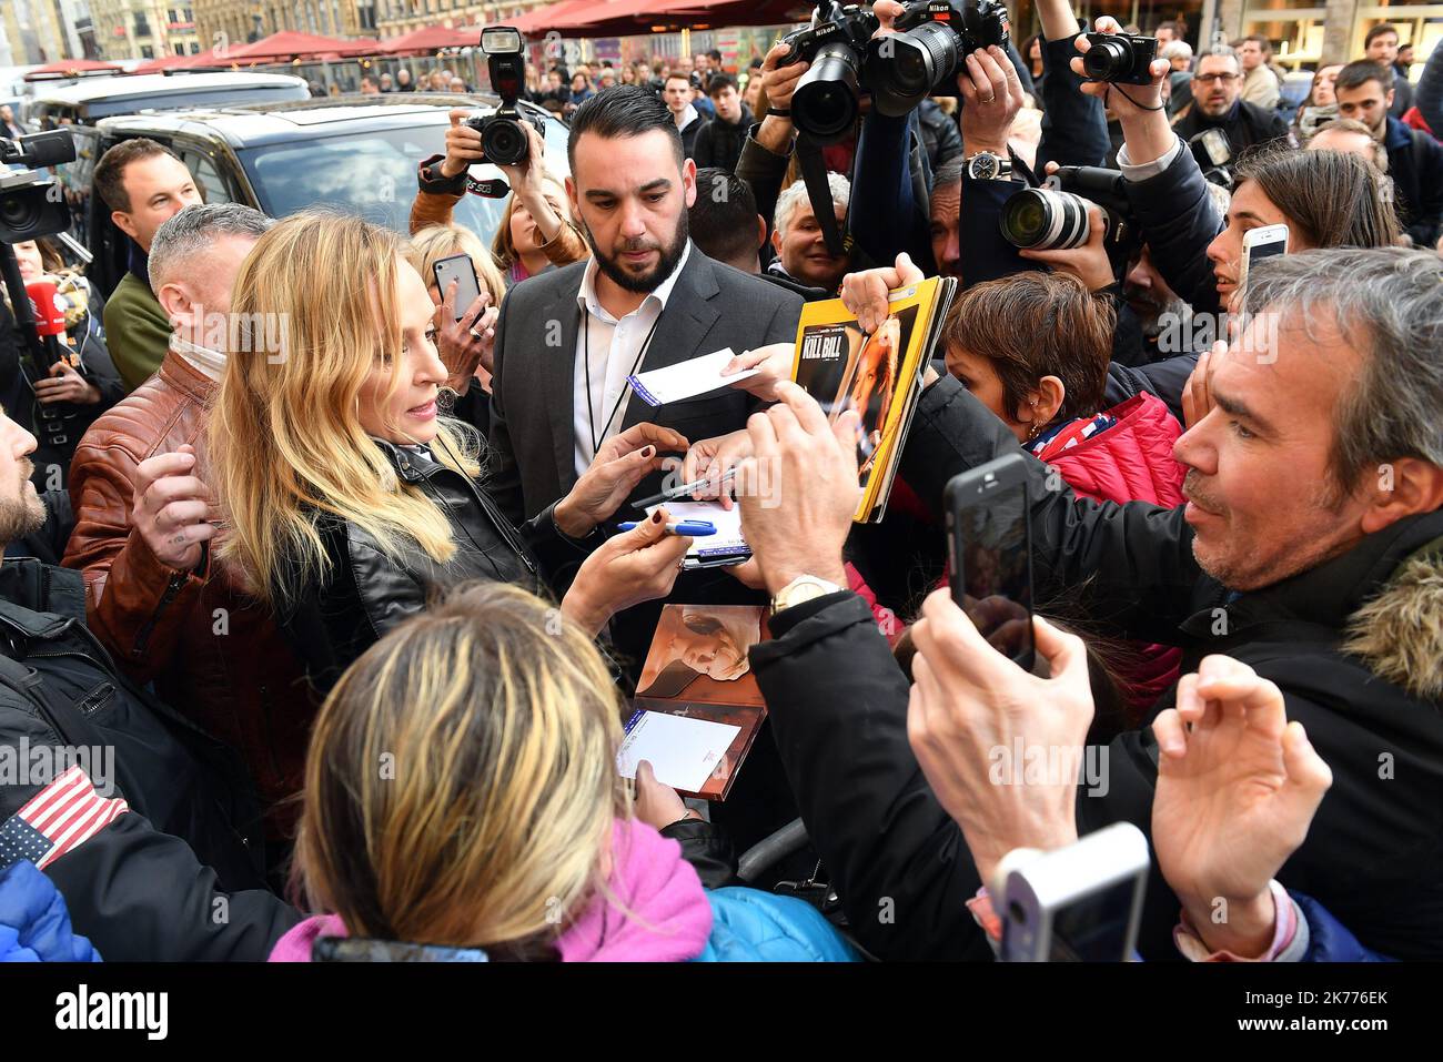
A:
[[[329,574],[320,514],[358,525],[392,558],[408,543],[437,563],[456,551],[446,514],[400,482],[359,417],[361,390],[378,365],[391,365],[385,398],[401,388],[401,261],[390,229],[306,211],[263,235],[235,278],[237,336],[209,420],[208,456],[232,531],[219,556],[267,603],[287,586]],[[273,336],[280,342],[266,354]],[[439,421],[437,460],[476,476],[478,450],[473,429]]]

